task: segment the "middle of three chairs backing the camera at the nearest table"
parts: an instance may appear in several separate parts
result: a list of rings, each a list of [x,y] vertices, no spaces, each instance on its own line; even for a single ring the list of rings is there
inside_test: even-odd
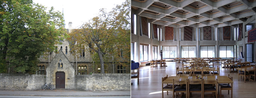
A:
[[[204,79],[197,80],[197,81],[192,81],[192,80],[190,81],[188,79],[188,81],[187,81],[188,98],[190,98],[190,93],[192,93],[192,92],[201,92],[201,98],[203,98],[203,81],[204,81]]]

